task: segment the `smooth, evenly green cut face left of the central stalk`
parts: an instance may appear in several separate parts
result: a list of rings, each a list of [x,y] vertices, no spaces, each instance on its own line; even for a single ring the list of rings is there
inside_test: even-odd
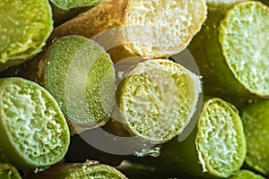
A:
[[[115,69],[99,44],[81,36],[58,38],[42,65],[45,88],[71,122],[103,124],[114,105]]]

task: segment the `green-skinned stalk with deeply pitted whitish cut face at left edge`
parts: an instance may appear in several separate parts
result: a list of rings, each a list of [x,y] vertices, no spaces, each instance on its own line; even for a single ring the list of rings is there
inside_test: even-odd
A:
[[[62,160],[70,134],[56,100],[22,78],[0,80],[0,149],[18,169],[46,167]]]

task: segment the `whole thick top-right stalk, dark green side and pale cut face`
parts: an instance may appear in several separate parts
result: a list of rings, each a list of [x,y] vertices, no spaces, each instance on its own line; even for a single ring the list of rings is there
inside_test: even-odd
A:
[[[268,96],[269,8],[255,1],[221,2],[208,1],[208,19],[190,46],[204,87],[233,100]]]

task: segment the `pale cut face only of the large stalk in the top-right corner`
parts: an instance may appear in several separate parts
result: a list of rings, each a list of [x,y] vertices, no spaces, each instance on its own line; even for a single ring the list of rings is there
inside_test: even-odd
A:
[[[222,54],[235,78],[251,93],[269,96],[269,8],[235,4],[219,27]]]

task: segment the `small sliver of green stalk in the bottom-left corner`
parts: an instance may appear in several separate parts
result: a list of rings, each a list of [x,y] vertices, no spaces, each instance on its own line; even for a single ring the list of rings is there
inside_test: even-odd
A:
[[[0,163],[0,178],[3,179],[22,179],[18,170],[10,164]]]

